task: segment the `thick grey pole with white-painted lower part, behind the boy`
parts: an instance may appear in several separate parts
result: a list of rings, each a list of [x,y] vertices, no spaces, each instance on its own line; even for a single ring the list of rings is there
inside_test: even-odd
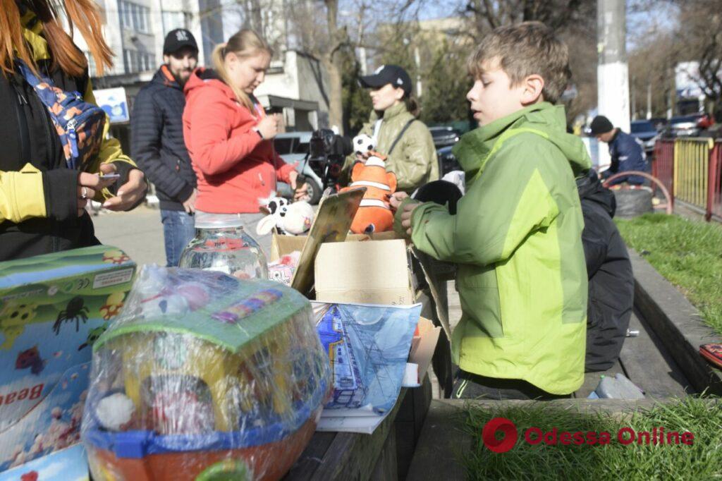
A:
[[[596,4],[597,105],[615,127],[630,130],[630,86],[627,67],[627,2],[598,0]],[[609,150],[599,149],[600,165],[609,164]]]

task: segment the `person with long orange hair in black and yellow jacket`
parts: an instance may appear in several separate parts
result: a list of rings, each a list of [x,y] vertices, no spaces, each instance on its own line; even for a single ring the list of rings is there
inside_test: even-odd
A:
[[[67,21],[81,32],[97,73],[112,65],[95,3],[65,0]],[[0,261],[99,243],[84,207],[90,199],[111,210],[129,210],[147,183],[135,163],[108,138],[105,119],[100,152],[82,172],[66,165],[63,144],[48,109],[19,73],[22,60],[66,92],[95,104],[87,59],[64,31],[49,0],[0,0]],[[119,174],[103,179],[100,174]]]

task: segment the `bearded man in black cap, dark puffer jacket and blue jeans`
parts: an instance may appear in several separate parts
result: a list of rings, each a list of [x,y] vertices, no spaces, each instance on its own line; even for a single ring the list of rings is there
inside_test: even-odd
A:
[[[183,141],[183,84],[198,64],[198,45],[185,28],[168,32],[164,64],[136,97],[131,116],[131,152],[155,184],[168,267],[195,235],[196,174]]]

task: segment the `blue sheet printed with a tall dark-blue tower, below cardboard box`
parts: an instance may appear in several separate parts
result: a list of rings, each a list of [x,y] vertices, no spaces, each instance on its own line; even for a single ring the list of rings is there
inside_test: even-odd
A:
[[[421,304],[313,303],[316,330],[334,376],[326,410],[391,410],[399,397]]]

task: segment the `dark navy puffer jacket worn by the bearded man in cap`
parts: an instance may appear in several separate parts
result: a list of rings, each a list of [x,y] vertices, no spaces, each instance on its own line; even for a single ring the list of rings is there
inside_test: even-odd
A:
[[[131,154],[155,184],[160,208],[183,210],[196,188],[196,174],[183,142],[186,97],[163,65],[135,100],[131,117]]]

